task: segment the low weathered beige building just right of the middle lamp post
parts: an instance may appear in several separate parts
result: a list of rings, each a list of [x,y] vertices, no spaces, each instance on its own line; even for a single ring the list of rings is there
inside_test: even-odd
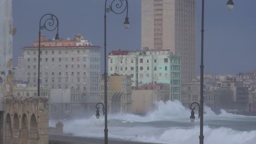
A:
[[[108,77],[108,111],[130,112],[131,76],[112,75]],[[101,80],[101,102],[104,103],[104,77]]]

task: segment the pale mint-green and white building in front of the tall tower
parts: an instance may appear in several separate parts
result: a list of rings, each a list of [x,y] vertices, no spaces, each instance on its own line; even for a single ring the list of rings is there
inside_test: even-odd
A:
[[[181,98],[181,57],[170,50],[112,51],[108,74],[131,75],[132,86],[170,84],[170,100]]]

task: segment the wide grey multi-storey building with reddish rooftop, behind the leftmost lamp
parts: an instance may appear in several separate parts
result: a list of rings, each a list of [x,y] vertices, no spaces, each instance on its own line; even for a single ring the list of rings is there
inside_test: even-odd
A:
[[[37,87],[38,41],[24,50],[25,81]],[[94,105],[100,100],[100,46],[93,46],[83,35],[74,40],[45,40],[41,37],[40,86],[71,89]]]

